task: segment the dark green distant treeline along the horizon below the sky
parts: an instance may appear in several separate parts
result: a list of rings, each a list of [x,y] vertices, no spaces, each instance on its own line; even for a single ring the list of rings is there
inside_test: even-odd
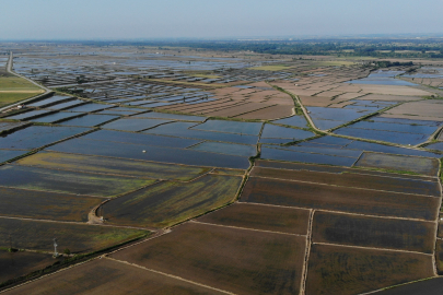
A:
[[[425,57],[443,58],[443,38],[427,39],[303,39],[303,40],[145,40],[82,42],[94,46],[149,46],[167,50],[187,47],[195,50],[218,50],[235,54],[254,51],[270,55],[334,55],[342,57]]]

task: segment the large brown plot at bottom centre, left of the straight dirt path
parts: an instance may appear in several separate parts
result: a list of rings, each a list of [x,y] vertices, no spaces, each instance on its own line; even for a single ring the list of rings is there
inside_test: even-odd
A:
[[[235,294],[299,294],[305,238],[187,223],[112,258]]]

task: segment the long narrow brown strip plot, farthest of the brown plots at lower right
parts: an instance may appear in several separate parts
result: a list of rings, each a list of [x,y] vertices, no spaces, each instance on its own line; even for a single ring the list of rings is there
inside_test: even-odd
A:
[[[374,189],[393,192],[405,192],[413,194],[424,194],[440,197],[440,184],[436,179],[432,181],[401,178],[400,175],[387,177],[388,175],[365,175],[359,174],[360,170],[348,170],[342,174],[319,173],[306,170],[287,170],[254,167],[250,176],[278,178],[285,180],[318,182],[324,185]]]

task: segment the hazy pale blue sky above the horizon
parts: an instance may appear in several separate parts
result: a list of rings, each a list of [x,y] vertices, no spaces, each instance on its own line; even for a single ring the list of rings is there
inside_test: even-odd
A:
[[[4,0],[0,39],[443,33],[443,0]]]

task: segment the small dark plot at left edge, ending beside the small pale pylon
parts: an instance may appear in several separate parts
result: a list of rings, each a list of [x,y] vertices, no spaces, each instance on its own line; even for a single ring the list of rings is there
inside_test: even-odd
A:
[[[26,275],[51,266],[57,260],[51,255],[33,252],[8,252],[0,250],[0,283]]]

